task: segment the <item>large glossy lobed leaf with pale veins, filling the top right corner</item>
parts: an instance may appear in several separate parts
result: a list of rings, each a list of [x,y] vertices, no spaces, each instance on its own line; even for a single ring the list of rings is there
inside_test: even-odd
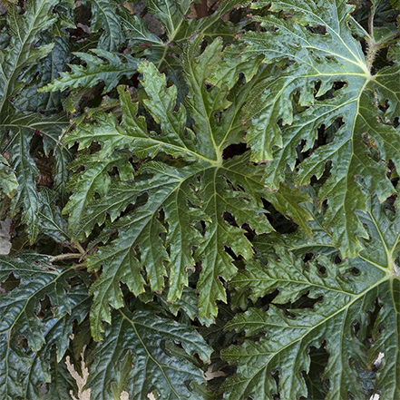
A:
[[[376,143],[385,161],[398,164],[400,153],[398,130],[387,124],[399,115],[398,65],[371,74],[376,50],[385,40],[376,42],[375,36],[362,30],[370,47],[365,56],[349,25],[354,22],[349,15],[352,8],[344,0],[273,1],[271,9],[288,17],[257,17],[266,32],[244,34],[247,47],[240,55],[249,60],[262,54],[264,63],[270,64],[290,61],[283,70],[277,65],[269,67],[269,75],[256,86],[255,100],[247,105],[252,160],[271,161],[266,164],[271,189],[284,180],[287,164],[294,169],[300,143],[302,151],[313,150],[318,128],[337,119],[342,122],[332,141],[300,163],[297,183],[307,184],[313,175],[321,177],[327,161],[332,161],[330,177],[319,190],[318,199],[328,201],[325,228],[332,232],[334,244],[345,257],[356,254],[361,249],[358,239],[366,238],[366,230],[355,218],[356,210],[366,210],[362,185],[376,190],[381,201],[393,192],[385,165],[373,160],[366,138]],[[226,55],[226,63],[216,72],[229,69],[232,54]],[[211,78],[211,82],[218,79]],[[335,91],[334,83],[345,85]],[[388,102],[385,115],[376,107],[376,99]]]

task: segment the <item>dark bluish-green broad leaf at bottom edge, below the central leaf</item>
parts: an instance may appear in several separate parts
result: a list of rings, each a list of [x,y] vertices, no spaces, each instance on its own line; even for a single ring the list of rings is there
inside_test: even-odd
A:
[[[210,353],[191,327],[147,311],[114,311],[112,327],[93,353],[95,362],[87,384],[91,398],[118,398],[125,389],[134,400],[153,391],[160,398],[201,399],[192,384],[205,379],[193,356],[199,355],[205,363]]]

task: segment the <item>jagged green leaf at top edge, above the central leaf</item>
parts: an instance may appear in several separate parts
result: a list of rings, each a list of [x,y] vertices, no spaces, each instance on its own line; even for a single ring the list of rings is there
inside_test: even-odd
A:
[[[92,50],[96,55],[76,54],[83,60],[85,66],[71,65],[71,73],[62,73],[62,76],[54,80],[54,83],[48,84],[44,91],[67,88],[73,90],[80,86],[92,87],[102,81],[105,83],[104,93],[109,92],[123,75],[131,77],[136,72],[136,58],[129,54],[115,53],[125,37],[133,54],[138,58],[145,58],[155,63],[159,69],[167,68],[168,76],[179,88],[179,93],[185,91],[186,85],[182,79],[182,68],[179,58],[176,56],[181,53],[182,44],[195,34],[202,34],[210,43],[218,36],[227,41],[232,40],[244,22],[232,24],[223,21],[222,16],[232,7],[249,4],[249,0],[227,0],[221,3],[219,10],[213,15],[200,20],[185,17],[190,14],[190,4],[191,1],[188,0],[151,0],[148,2],[149,13],[157,16],[165,30],[167,41],[163,41],[147,29],[146,23],[141,17],[131,14],[130,7],[115,8],[115,4],[111,0],[93,2],[93,13],[96,15],[95,21],[92,21],[93,31],[103,28],[108,35],[103,34],[99,48]],[[105,37],[108,37],[110,41],[107,45],[102,40]],[[118,38],[118,43],[113,43],[116,38]],[[106,62],[102,59],[105,59]],[[182,94],[179,94],[180,97]]]

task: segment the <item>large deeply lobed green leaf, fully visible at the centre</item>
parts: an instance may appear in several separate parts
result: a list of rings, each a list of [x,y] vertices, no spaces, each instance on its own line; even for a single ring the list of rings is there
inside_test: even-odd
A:
[[[148,95],[144,103],[159,124],[159,133],[148,132],[144,119],[137,117],[138,105],[132,103],[129,93],[120,90],[121,125],[112,114],[98,114],[96,124],[79,125],[65,137],[70,145],[79,141],[80,149],[97,141],[101,149],[93,158],[99,165],[108,160],[112,151],[122,147],[139,158],[154,158],[162,151],[186,161],[181,167],[161,161],[144,162],[135,182],[115,182],[107,189],[108,194],[88,209],[74,198],[67,206],[65,211],[71,212],[70,227],[79,227],[79,230],[73,229],[74,235],[82,235],[88,234],[95,223],[102,224],[107,214],[113,221],[130,204],[134,205],[132,212],[108,228],[118,229],[119,238],[88,260],[90,270],[102,267],[102,275],[92,287],[96,338],[102,331],[102,320],[110,322],[109,305],[115,308],[123,305],[120,282],[135,294],[143,291],[146,280],[152,290],[160,291],[164,284],[162,277],[168,273],[169,300],[173,301],[180,298],[182,287],[188,284],[186,269],[193,268],[196,262],[202,265],[198,284],[200,317],[215,316],[215,300],[226,301],[220,278],[229,280],[236,270],[225,249],[249,259],[253,251],[240,227],[249,224],[259,233],[271,230],[262,210],[261,196],[268,198],[270,193],[264,190],[261,169],[249,163],[249,153],[226,161],[222,158],[223,150],[230,143],[242,141],[241,105],[245,98],[235,97],[229,102],[226,88],[206,88],[210,71],[203,65],[219,62],[220,41],[199,55],[200,41],[198,38],[188,45],[182,57],[190,88],[185,105],[194,120],[190,128],[183,105],[175,111],[176,87],[167,88],[165,77],[151,63],[141,63],[142,84]],[[250,93],[250,86],[246,87],[245,83],[240,86],[243,93]],[[103,195],[105,191],[99,193]],[[283,198],[289,192],[298,202],[307,201],[307,196],[295,189],[288,193],[282,191]],[[274,196],[270,197],[274,201]],[[282,198],[275,197],[275,200],[281,202]],[[87,213],[83,220],[75,216],[81,205],[81,215]],[[159,218],[161,210],[164,226]],[[308,214],[298,204],[294,210],[288,212],[295,220],[307,219]],[[235,223],[228,223],[227,213]],[[199,227],[195,228],[200,220],[205,222],[203,234]],[[164,231],[167,232],[165,241],[161,239]],[[194,254],[193,246],[197,247]],[[168,269],[164,261],[168,261]],[[141,271],[146,272],[147,279]]]

